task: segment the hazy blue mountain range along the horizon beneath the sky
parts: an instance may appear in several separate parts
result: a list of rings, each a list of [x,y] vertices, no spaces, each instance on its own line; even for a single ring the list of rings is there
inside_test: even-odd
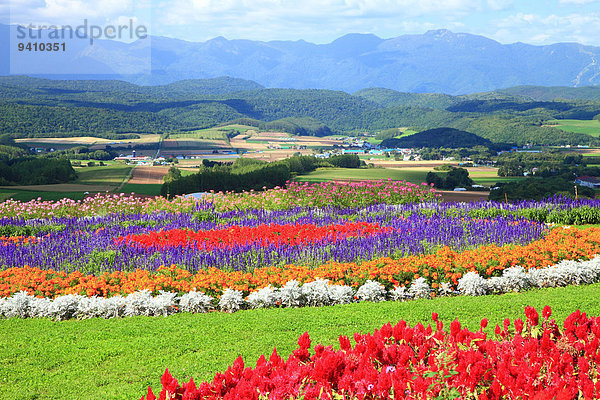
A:
[[[0,37],[8,38],[14,29],[0,25]],[[12,45],[10,40],[0,41],[0,54],[8,55]],[[96,40],[92,46],[68,42],[67,47],[64,54],[46,54],[46,58],[35,52],[21,52],[20,65],[40,65],[43,60],[49,68],[29,75],[48,78],[110,78],[158,85],[230,76],[267,88],[349,93],[379,87],[457,95],[525,85],[600,84],[600,47],[577,43],[501,44],[483,36],[448,30],[391,39],[349,34],[328,44],[223,37],[187,42],[150,37],[132,43]],[[11,55],[14,54],[13,49]],[[145,55],[151,72],[138,73]],[[8,57],[1,58],[0,74],[8,75]],[[84,66],[86,76],[73,73],[74,65]]]

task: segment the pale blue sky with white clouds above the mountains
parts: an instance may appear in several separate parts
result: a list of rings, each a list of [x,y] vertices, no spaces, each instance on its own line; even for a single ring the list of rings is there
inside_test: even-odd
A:
[[[600,46],[600,0],[2,0],[0,22],[127,23],[152,35],[329,43],[348,33],[381,38],[449,29],[501,43]]]

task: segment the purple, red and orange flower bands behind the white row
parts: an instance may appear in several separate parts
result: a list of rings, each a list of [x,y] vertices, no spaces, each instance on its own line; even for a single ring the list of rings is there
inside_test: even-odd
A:
[[[385,184],[342,186],[371,194],[373,187],[397,190]],[[332,187],[302,184],[294,190]],[[1,293],[108,295],[196,287],[219,295],[235,287],[248,294],[316,277],[354,286],[375,278],[388,289],[426,277],[436,288],[456,285],[472,270],[489,277],[515,265],[588,259],[600,242],[595,231],[580,235],[544,224],[598,223],[597,200],[456,204],[424,196],[400,204],[250,208],[255,199],[287,192],[220,195],[254,199],[234,210],[190,198],[124,195],[3,203],[11,216],[0,219]],[[49,283],[30,284],[38,275]]]

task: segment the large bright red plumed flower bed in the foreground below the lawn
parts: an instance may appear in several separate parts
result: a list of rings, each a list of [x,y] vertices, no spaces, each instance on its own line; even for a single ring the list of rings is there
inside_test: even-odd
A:
[[[276,351],[255,368],[239,357],[212,382],[180,385],[167,370],[159,399],[597,399],[600,398],[600,317],[571,314],[559,330],[550,307],[496,327],[489,339],[458,321],[444,330],[400,321],[373,334],[340,336],[340,350],[316,345],[308,333],[287,360]],[[335,396],[335,397],[334,397]],[[438,397],[440,396],[440,397]],[[156,399],[152,390],[142,400]]]

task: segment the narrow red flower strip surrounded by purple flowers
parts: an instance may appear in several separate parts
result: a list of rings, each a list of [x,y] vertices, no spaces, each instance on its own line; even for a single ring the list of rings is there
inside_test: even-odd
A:
[[[230,226],[225,229],[194,232],[188,229],[171,229],[141,235],[127,235],[115,239],[143,247],[164,249],[194,246],[203,250],[244,244],[303,245],[317,241],[335,241],[349,237],[369,236],[388,232],[391,228],[377,223],[348,222],[345,224],[317,226],[314,224]]]

